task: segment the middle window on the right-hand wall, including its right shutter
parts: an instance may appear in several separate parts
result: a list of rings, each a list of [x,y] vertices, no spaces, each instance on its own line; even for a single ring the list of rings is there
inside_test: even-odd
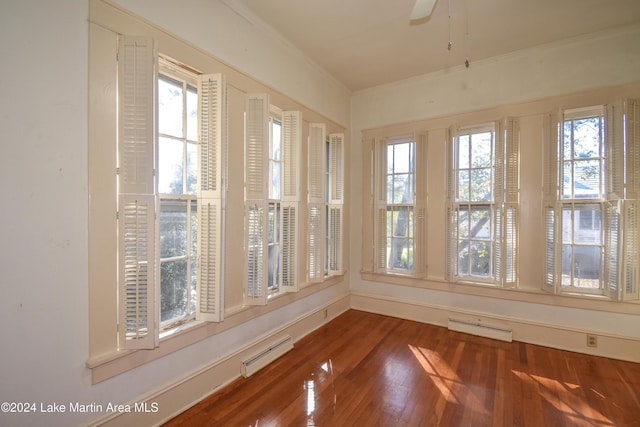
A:
[[[515,286],[518,146],[505,119],[460,128],[451,138],[448,261],[452,281]]]

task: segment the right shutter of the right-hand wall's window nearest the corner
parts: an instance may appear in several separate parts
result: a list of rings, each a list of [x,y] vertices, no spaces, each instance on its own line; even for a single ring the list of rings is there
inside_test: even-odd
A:
[[[416,141],[416,197],[413,274],[425,277],[427,274],[427,135],[418,135]]]

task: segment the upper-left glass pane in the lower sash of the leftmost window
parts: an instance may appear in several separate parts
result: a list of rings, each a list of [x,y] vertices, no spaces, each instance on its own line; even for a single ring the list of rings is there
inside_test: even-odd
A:
[[[187,254],[187,202],[160,201],[160,257]]]

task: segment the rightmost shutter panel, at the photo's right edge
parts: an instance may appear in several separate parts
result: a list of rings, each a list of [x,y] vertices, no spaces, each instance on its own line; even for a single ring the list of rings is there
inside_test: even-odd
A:
[[[623,298],[637,300],[640,299],[640,101],[625,101],[624,114],[626,200],[623,219]]]

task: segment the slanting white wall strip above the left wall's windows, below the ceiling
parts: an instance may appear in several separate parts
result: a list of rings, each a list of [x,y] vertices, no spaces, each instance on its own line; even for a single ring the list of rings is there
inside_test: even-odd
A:
[[[247,20],[221,1],[115,2],[348,127],[350,92],[265,24]]]

